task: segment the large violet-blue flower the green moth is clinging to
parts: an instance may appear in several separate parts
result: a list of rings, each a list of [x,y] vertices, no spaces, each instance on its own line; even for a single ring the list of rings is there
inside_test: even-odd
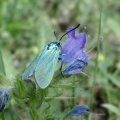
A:
[[[61,52],[62,63],[65,64],[63,74],[78,74],[88,65],[88,54],[84,51],[86,39],[84,32],[76,35],[73,30],[68,33]]]

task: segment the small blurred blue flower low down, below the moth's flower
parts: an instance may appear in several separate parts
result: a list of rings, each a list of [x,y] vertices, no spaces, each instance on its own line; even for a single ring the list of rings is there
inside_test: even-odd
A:
[[[89,113],[89,107],[86,105],[77,105],[75,106],[67,116],[84,116]]]

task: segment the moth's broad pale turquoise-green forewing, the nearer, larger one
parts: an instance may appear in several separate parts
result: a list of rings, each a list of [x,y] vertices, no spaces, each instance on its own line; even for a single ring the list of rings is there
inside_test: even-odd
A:
[[[46,50],[35,69],[35,80],[42,89],[46,88],[54,75],[60,49]]]

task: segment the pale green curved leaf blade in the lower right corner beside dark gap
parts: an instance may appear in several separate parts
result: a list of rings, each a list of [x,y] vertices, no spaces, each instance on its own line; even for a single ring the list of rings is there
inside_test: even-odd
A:
[[[114,114],[120,116],[120,109],[118,109],[118,107],[116,107],[115,105],[109,104],[109,103],[105,103],[105,104],[102,104],[102,106],[104,108],[107,108],[108,110],[110,110]]]

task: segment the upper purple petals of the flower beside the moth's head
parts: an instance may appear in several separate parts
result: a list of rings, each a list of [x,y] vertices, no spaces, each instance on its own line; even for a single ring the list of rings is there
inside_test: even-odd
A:
[[[70,30],[70,29],[68,29]],[[68,31],[67,30],[67,31]],[[66,54],[67,56],[72,56],[76,54],[76,52],[82,50],[86,44],[86,34],[80,33],[79,35],[75,35],[75,30],[68,33],[68,39],[65,41],[64,46],[62,48],[61,54]],[[69,61],[63,56],[63,62]]]

